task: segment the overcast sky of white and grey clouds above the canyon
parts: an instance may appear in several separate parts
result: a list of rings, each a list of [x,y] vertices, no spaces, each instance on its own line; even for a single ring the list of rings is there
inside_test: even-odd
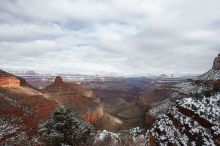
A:
[[[220,0],[0,0],[0,68],[197,74],[220,53]]]

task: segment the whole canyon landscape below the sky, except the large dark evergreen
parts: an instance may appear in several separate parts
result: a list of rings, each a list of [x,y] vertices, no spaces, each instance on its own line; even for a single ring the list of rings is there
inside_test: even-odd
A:
[[[0,144],[39,145],[38,126],[65,106],[94,126],[94,146],[219,145],[219,57],[196,77],[0,70]]]

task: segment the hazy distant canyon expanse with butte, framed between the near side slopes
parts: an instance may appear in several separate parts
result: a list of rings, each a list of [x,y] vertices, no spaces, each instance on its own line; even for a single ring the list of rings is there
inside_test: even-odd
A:
[[[170,86],[182,83],[189,77],[106,77],[78,74],[58,74],[56,77],[30,71],[16,74],[53,97],[59,104],[77,111],[80,117],[93,123],[97,129],[115,132],[147,126],[149,122],[146,120],[146,112],[166,98],[163,90],[168,92]]]

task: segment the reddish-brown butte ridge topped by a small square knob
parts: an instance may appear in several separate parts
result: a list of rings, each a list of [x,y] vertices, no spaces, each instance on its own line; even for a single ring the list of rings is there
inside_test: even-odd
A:
[[[62,77],[57,76],[44,92],[61,105],[70,107],[86,122],[96,125],[103,116],[99,99],[91,90],[84,89],[80,84],[64,82]]]

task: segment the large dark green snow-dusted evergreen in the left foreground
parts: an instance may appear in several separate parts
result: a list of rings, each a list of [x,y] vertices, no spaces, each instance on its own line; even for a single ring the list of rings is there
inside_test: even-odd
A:
[[[46,145],[86,145],[93,133],[93,126],[76,118],[71,109],[60,107],[51,118],[40,125],[41,141]]]

